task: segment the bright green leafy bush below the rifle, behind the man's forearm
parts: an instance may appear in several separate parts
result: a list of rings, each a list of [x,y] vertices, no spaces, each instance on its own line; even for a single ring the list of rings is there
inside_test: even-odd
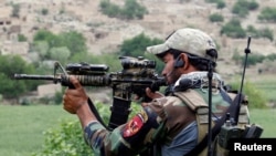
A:
[[[103,118],[104,123],[110,117],[110,110],[108,104],[94,102],[98,114]],[[132,117],[141,106],[137,103],[131,103],[131,113],[129,117]],[[93,150],[85,144],[83,137],[83,131],[78,121],[65,122],[62,121],[59,128],[47,129],[45,133],[45,141],[43,149],[33,154],[32,156],[52,156],[52,155],[66,155],[66,156],[93,156]]]

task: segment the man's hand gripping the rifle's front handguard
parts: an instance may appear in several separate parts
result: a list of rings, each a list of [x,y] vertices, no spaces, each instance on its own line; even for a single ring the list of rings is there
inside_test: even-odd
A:
[[[88,96],[82,84],[75,76],[70,76],[70,81],[75,89],[66,89],[63,95],[63,108],[72,114],[85,104],[87,104]]]

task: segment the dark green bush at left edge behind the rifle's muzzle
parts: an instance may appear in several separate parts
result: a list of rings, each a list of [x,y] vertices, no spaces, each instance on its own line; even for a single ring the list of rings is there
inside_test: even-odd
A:
[[[32,73],[34,66],[26,64],[22,58],[18,55],[0,55],[0,94],[6,98],[14,98],[33,90],[38,83],[30,81],[14,81],[11,77],[14,73]]]

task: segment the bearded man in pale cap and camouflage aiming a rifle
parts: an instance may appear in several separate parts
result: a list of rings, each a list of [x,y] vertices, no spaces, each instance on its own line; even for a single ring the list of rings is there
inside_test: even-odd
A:
[[[215,71],[217,59],[214,41],[201,30],[184,28],[147,51],[164,63],[162,75],[169,90],[164,95],[147,90],[152,101],[142,103],[139,113],[112,132],[96,119],[88,107],[85,90],[71,76],[75,89],[65,91],[64,110],[78,116],[85,141],[95,155],[135,156],[153,148],[150,155],[183,156],[201,142],[202,134],[208,133],[206,112],[199,116],[198,111],[208,107],[208,71],[210,67]],[[223,81],[213,72],[213,121],[230,106],[220,92],[223,92]]]

